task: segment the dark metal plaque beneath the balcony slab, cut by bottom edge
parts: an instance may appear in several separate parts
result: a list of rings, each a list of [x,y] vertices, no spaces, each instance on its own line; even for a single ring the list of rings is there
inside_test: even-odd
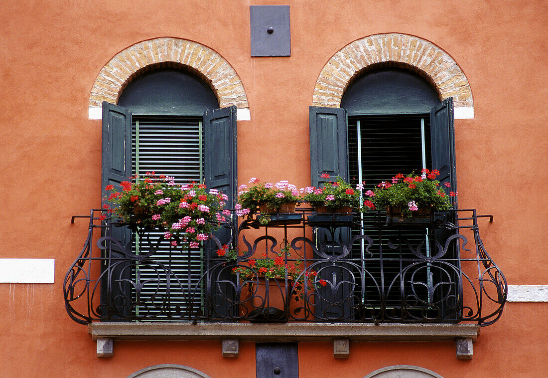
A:
[[[255,343],[256,378],[299,378],[296,342]]]

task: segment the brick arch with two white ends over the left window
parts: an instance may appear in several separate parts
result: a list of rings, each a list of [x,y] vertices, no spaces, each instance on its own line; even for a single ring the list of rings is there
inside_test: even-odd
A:
[[[89,118],[100,119],[102,101],[116,104],[134,77],[156,67],[187,67],[213,89],[221,108],[236,105],[238,119],[248,119],[246,91],[232,66],[207,46],[169,37],[135,43],[102,67],[89,95]]]

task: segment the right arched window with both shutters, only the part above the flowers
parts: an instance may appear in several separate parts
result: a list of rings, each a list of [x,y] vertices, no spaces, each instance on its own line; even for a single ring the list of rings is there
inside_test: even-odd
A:
[[[358,140],[367,151],[358,151]],[[453,99],[440,101],[436,89],[410,70],[368,70],[347,87],[340,108],[311,106],[310,148],[315,186],[326,172],[357,179],[361,165],[369,184],[428,166],[456,188]]]

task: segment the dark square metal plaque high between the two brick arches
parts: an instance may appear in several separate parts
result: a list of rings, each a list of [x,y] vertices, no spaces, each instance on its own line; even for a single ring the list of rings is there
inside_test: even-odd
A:
[[[250,5],[251,56],[289,57],[289,5]]]

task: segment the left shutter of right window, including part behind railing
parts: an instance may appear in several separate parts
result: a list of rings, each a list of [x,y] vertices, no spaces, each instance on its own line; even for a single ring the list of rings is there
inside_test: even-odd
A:
[[[347,114],[343,108],[321,108],[310,106],[310,173],[311,183],[314,187],[333,180],[337,176],[349,181],[348,165],[348,137]],[[320,177],[322,173],[329,173],[330,178]],[[348,245],[350,242],[350,228],[339,227],[334,234],[326,228],[314,230],[315,242],[327,244],[328,255],[340,255],[343,251],[339,240]],[[334,239],[334,240],[333,240]],[[315,256],[316,258],[318,256]],[[350,256],[349,256],[350,257]],[[333,265],[333,266],[332,266]],[[329,268],[322,270],[322,278],[341,283],[352,282],[351,273],[346,264],[335,262],[326,264]],[[315,304],[316,317],[322,319],[349,318],[351,312],[352,287],[350,284],[336,285],[337,290],[332,291],[330,285],[319,287],[317,302]]]

